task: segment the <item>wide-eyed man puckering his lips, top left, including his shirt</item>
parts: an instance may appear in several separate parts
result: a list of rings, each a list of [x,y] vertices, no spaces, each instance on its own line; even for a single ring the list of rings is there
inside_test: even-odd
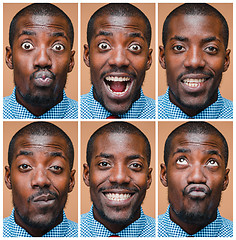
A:
[[[75,64],[73,41],[71,20],[53,4],[31,4],[14,16],[6,64],[15,88],[4,97],[4,119],[78,118],[78,103],[64,91]]]

